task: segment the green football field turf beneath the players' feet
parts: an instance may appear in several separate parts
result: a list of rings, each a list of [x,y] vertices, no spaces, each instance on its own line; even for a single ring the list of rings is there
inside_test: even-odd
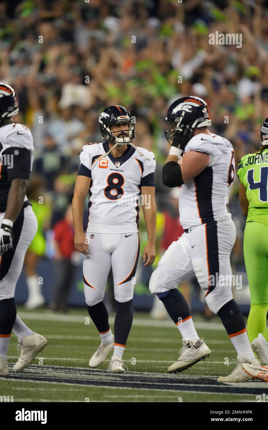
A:
[[[88,322],[86,309],[66,315],[46,310],[18,315],[35,332],[46,336],[48,346],[22,372],[0,378],[0,396],[14,402],[256,402],[268,395],[268,384],[251,380],[241,384],[217,382],[235,364],[236,352],[219,318],[204,321],[193,316],[197,332],[211,349],[205,359],[182,373],[169,374],[167,367],[179,356],[181,335],[172,321],[155,321],[146,313],[135,313],[123,356],[128,371],[110,374],[106,362],[90,369],[89,358],[99,346],[95,326]],[[110,316],[113,330],[114,316]],[[8,361],[17,360],[17,339],[12,334]]]

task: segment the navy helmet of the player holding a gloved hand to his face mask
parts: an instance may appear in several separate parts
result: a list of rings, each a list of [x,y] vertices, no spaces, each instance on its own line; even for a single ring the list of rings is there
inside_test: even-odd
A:
[[[172,125],[172,129],[165,130],[166,139],[172,144],[174,132],[183,132],[186,125],[191,133],[196,128],[211,126],[208,105],[202,98],[191,95],[179,98],[169,106],[165,123]]]

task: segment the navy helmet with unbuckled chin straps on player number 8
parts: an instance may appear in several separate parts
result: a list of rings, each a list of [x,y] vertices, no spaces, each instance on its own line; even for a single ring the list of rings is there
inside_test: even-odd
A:
[[[121,137],[117,137],[110,126],[119,123],[127,123],[128,129],[124,129]],[[111,141],[117,145],[125,145],[133,142],[136,138],[135,125],[130,112],[123,106],[109,106],[102,111],[99,116],[99,130],[102,138],[106,141]],[[119,134],[117,132],[116,134]]]

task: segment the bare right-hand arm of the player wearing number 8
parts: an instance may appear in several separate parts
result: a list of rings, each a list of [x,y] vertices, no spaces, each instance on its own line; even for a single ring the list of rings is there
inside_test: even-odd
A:
[[[155,188],[154,187],[141,187],[142,203],[148,202],[148,205],[142,205],[142,211],[147,230],[148,243],[143,252],[143,262],[145,266],[153,264],[156,250],[155,250],[155,237],[156,237],[156,204],[154,200]],[[145,197],[146,196],[146,197]],[[147,260],[147,261],[146,261]],[[146,262],[145,262],[146,261]]]

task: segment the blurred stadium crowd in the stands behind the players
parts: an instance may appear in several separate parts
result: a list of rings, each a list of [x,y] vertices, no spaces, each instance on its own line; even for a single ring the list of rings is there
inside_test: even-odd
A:
[[[178,220],[161,180],[167,107],[183,95],[204,98],[211,131],[231,141],[236,163],[255,152],[268,116],[267,15],[264,0],[1,1],[0,80],[18,92],[15,121],[34,136],[33,180],[42,180],[51,208],[46,229],[67,222],[81,148],[101,141],[99,113],[120,104],[135,117],[136,145],[156,155],[160,255],[174,240],[163,224]],[[242,34],[242,47],[210,45],[216,31]],[[228,207],[237,227],[232,263],[243,267],[238,180]]]

